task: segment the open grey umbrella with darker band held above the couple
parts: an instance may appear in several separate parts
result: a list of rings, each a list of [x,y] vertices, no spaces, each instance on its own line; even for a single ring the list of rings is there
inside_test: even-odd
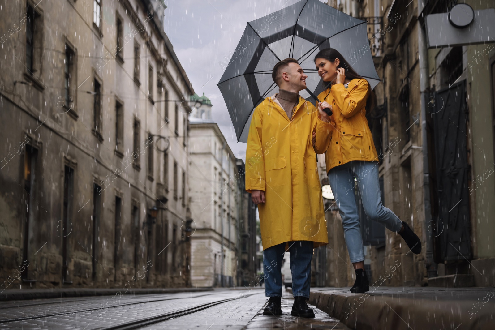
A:
[[[349,16],[318,0],[302,0],[262,18],[248,22],[243,36],[217,86],[225,99],[237,140],[247,141],[254,108],[267,96],[278,93],[272,80],[274,65],[294,57],[308,75],[309,92],[323,91],[315,70],[314,55],[335,48],[352,68],[374,88],[380,78],[373,64],[366,21]],[[311,94],[302,91],[301,96]]]

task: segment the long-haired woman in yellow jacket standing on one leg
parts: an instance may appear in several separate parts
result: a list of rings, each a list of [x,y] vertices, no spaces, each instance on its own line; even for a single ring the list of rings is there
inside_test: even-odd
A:
[[[378,155],[366,120],[366,111],[374,106],[375,100],[368,82],[333,48],[320,50],[315,56],[315,65],[326,88],[318,99],[328,102],[333,111],[334,126],[325,152],[325,162],[330,187],[342,218],[347,251],[356,273],[350,291],[366,292],[369,285],[364,271],[354,180],[359,186],[364,212],[371,220],[397,232],[415,254],[421,252],[421,242],[407,223],[400,221],[394,212],[382,204]]]

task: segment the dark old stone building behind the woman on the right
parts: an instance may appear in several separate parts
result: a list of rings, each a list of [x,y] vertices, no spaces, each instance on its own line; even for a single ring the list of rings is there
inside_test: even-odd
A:
[[[495,1],[464,2],[475,11],[495,7]],[[428,44],[440,31],[428,31],[428,15],[442,14],[435,19],[449,25],[447,14],[457,1],[328,4],[368,21],[369,51],[383,80],[374,89],[377,107],[367,114],[380,155],[382,199],[414,228],[423,244],[421,254],[413,255],[400,236],[371,223],[361,209],[365,266],[372,281],[384,279],[385,272],[400,263],[384,285],[493,285],[493,43]],[[475,29],[477,23],[471,24]],[[326,175],[321,177],[325,180]],[[326,257],[318,260],[319,265],[327,263],[320,267],[327,267],[335,279],[321,281],[351,285],[353,272],[337,267],[343,255],[348,262],[347,250],[336,249],[344,244],[343,237],[339,241],[340,217],[331,209],[326,214],[333,236],[330,247],[321,252]]]

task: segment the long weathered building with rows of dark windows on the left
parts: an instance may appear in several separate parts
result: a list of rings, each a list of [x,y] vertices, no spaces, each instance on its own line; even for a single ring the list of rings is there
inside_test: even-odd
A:
[[[0,2],[2,290],[188,285],[194,91],[161,1]]]

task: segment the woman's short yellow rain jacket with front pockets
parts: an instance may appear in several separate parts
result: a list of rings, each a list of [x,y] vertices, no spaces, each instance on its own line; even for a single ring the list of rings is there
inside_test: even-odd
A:
[[[320,101],[332,105],[332,122],[335,122],[325,152],[327,173],[351,160],[378,160],[366,119],[368,90],[366,79],[352,79],[347,88],[344,84],[333,84],[318,95]]]

